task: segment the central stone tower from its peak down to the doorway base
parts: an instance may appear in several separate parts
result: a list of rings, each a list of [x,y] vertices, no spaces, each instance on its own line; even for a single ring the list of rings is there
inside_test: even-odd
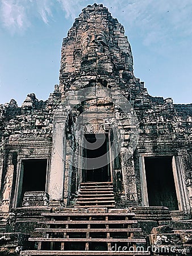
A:
[[[120,151],[123,154],[123,150],[128,150],[130,139],[137,135],[137,118],[131,113],[133,109],[129,101],[131,87],[136,83],[132,65],[131,47],[123,26],[112,18],[106,7],[86,7],[69,30],[68,37],[63,40],[61,49],[59,92],[62,100],[60,109],[55,112],[52,185],[49,191],[55,203],[62,200],[64,193],[64,204],[68,205],[82,181],[111,181],[115,185],[116,200],[121,198],[128,203],[131,198],[131,204],[137,205],[134,164],[123,155],[120,159]],[[127,108],[125,113],[120,105],[124,105],[123,109]],[[64,133],[66,137],[62,142]],[[123,141],[120,138],[122,134]],[[101,140],[101,144],[105,138],[103,146],[97,147],[95,136],[98,141]],[[86,148],[85,141],[92,143],[94,150],[91,151],[89,145]],[[58,152],[57,148],[62,152]],[[64,148],[68,159],[62,156]],[[106,155],[105,160],[103,166],[96,168],[102,160],[99,158],[101,151]],[[90,156],[86,158],[86,155]],[[96,166],[90,163],[87,168],[89,158],[95,161]],[[59,161],[62,162],[61,166],[58,165]],[[69,161],[73,164],[70,165]],[[132,176],[129,181],[128,173]],[[61,177],[64,175],[65,182],[62,184]],[[60,191],[54,187],[57,184],[59,189],[56,177],[60,179]]]

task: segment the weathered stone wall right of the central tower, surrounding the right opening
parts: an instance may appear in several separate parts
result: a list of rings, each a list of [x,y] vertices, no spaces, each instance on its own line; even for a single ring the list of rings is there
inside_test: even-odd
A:
[[[142,84],[137,93],[133,90],[131,93],[140,123],[139,142],[135,152],[136,176],[141,175],[139,156],[174,156],[177,175],[180,176],[178,174],[180,172],[182,176],[179,182],[185,187],[182,196],[185,197],[183,201],[187,201],[185,208],[189,213],[189,192],[186,184],[187,180],[191,179],[192,105],[173,104],[171,98],[149,96],[147,90],[142,88]],[[137,187],[140,191],[139,180]],[[143,200],[141,193],[138,196],[141,202]]]

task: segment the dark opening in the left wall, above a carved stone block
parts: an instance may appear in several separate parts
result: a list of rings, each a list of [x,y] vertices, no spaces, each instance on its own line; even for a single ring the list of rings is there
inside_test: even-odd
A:
[[[45,191],[47,159],[22,160],[19,205],[25,192]]]

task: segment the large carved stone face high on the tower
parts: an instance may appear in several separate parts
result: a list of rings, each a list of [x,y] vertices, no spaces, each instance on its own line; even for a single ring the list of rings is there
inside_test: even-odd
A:
[[[103,34],[103,32],[97,32],[97,34],[90,34],[89,32],[89,34],[87,34],[87,32],[82,34],[82,53],[105,52],[105,49],[107,49],[107,39],[105,34]]]

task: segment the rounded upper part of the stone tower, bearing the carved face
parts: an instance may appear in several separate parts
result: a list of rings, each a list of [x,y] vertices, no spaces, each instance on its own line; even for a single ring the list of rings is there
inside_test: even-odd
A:
[[[60,91],[85,87],[70,81],[72,75],[82,81],[87,77],[89,82],[89,76],[102,77],[103,80],[104,77],[111,77],[117,82],[123,79],[126,84],[133,77],[132,66],[131,47],[123,26],[112,18],[106,7],[88,6],[82,10],[68,37],[63,40]]]

